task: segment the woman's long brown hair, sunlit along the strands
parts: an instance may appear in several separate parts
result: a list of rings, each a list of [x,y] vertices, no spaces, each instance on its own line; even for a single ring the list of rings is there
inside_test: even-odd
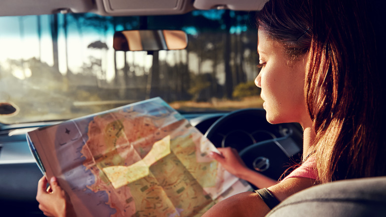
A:
[[[382,3],[270,0],[258,13],[258,28],[290,59],[309,54],[305,98],[322,183],[386,175]]]

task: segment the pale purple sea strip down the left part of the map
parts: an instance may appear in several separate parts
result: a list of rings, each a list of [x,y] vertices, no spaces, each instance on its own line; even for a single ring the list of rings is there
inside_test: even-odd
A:
[[[80,151],[88,140],[87,132],[90,121],[93,121],[93,117],[68,121],[59,125],[55,141],[57,156],[71,190],[87,207],[92,208],[89,210],[90,213],[93,216],[110,216],[116,210],[106,204],[108,194],[105,191],[93,192],[87,188],[95,183],[95,176],[83,166],[86,158],[82,157]]]

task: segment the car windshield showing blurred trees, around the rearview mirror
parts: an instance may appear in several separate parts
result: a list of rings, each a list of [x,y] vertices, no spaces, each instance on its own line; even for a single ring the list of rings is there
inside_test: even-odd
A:
[[[0,114],[5,124],[64,120],[161,97],[180,112],[261,107],[254,12],[108,17],[0,17]],[[122,52],[115,31],[178,29],[179,51]]]

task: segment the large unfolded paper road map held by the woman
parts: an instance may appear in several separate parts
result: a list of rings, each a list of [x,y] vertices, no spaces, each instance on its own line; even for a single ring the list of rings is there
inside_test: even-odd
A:
[[[199,217],[251,190],[208,157],[213,144],[160,98],[43,127],[27,140],[82,217]]]

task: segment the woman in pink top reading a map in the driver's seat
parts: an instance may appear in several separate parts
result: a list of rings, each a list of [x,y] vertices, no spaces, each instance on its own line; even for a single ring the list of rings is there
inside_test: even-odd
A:
[[[253,179],[267,181],[263,185],[267,189],[230,197],[205,216],[265,216],[278,202],[315,184],[386,175],[381,133],[386,119],[382,64],[386,34],[379,11],[385,7],[376,3],[266,3],[257,19],[261,72],[255,83],[262,89],[269,122],[302,125],[304,163],[270,187],[272,180],[257,174]],[[213,157],[226,167],[239,161],[232,150],[221,152]],[[54,208],[59,206],[59,214],[65,214],[67,202],[50,201],[54,195],[63,201],[65,194],[54,180],[53,193],[48,194],[46,183],[43,178],[38,188],[41,209],[56,216]]]

